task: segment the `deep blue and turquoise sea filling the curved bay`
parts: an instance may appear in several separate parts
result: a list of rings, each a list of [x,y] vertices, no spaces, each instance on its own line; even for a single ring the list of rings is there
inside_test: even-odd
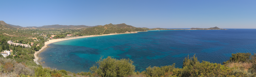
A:
[[[135,71],[173,63],[181,68],[188,55],[196,55],[199,61],[222,63],[231,53],[256,53],[256,29],[152,30],[72,39],[49,46],[40,54],[41,61],[46,62],[43,66],[74,73],[88,72],[101,56],[129,58]]]

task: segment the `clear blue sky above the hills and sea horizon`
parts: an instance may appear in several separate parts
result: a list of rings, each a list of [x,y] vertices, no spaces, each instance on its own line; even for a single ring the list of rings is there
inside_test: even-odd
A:
[[[2,0],[0,20],[19,26],[256,28],[256,0]]]

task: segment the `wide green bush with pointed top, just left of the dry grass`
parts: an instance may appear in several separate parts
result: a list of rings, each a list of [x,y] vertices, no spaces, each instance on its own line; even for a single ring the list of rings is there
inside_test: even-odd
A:
[[[233,69],[217,63],[202,61],[197,57],[185,58],[182,69],[174,70],[173,75],[179,77],[223,77],[232,76]]]

